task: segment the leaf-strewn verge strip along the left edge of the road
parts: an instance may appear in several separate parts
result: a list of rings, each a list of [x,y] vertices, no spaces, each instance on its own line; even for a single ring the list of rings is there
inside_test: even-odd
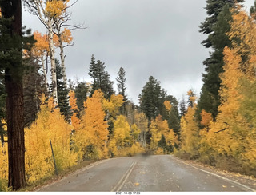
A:
[[[54,174],[50,177],[42,178],[42,180],[40,180],[40,181],[36,181],[33,184],[26,185],[25,188],[18,190],[18,192],[36,191],[37,189],[41,188],[42,186],[49,185],[49,184],[53,183],[54,181],[58,181],[58,180],[62,179],[63,177],[70,175],[70,173],[74,173],[75,171],[82,169],[82,168],[86,167],[87,165],[90,165],[96,161],[98,161],[98,160],[80,161],[80,162],[78,162],[78,165],[74,165],[68,169],[58,171],[58,176]]]

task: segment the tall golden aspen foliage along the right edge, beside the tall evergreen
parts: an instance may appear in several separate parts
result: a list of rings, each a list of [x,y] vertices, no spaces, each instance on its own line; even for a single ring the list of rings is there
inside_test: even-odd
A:
[[[243,173],[256,169],[256,24],[244,10],[232,10],[228,35],[232,48],[224,49],[224,72],[220,75],[221,105],[216,121],[202,114],[200,154],[203,161],[234,161]],[[223,165],[223,163],[222,163]],[[234,165],[233,165],[234,166]],[[254,173],[255,174],[255,173]]]

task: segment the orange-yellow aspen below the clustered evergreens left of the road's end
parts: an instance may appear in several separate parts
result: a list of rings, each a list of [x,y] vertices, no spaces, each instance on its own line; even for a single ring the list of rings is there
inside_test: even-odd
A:
[[[85,103],[85,114],[82,116],[81,128],[76,132],[77,145],[83,158],[106,157],[106,141],[108,140],[108,125],[105,112],[102,109],[103,93],[95,90]]]

